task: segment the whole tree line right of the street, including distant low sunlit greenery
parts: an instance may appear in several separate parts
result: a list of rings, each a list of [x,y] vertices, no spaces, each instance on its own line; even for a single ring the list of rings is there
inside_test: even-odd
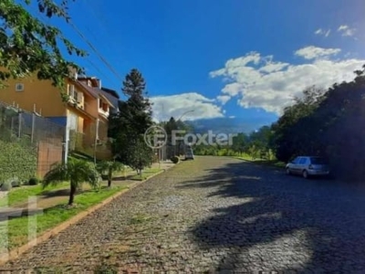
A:
[[[239,133],[229,146],[198,146],[195,154],[241,155],[287,163],[297,155],[328,159],[343,179],[365,177],[365,65],[349,82],[328,90],[308,87],[279,119],[249,134]]]

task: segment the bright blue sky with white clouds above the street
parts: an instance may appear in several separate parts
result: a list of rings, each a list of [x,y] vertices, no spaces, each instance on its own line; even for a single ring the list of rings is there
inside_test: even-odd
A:
[[[141,70],[158,120],[275,121],[301,90],[352,79],[365,64],[363,0],[77,0],[66,37],[89,52],[88,75],[120,90]],[[52,23],[52,20],[47,20]],[[362,26],[362,27],[361,27]]]

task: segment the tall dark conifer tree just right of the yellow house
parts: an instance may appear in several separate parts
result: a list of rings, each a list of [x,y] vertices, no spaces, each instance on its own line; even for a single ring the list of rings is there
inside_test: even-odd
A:
[[[110,115],[109,135],[114,139],[113,153],[117,160],[141,171],[153,158],[152,149],[143,135],[151,127],[151,102],[145,91],[141,72],[133,68],[123,81],[122,91],[128,98],[120,101],[119,112]]]

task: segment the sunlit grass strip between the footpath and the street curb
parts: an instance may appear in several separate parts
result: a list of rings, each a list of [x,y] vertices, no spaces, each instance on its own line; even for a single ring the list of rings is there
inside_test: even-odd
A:
[[[120,192],[127,186],[113,186],[111,188],[103,188],[99,191],[90,190],[88,192],[76,195],[76,207],[65,208],[64,205],[56,205],[45,209],[42,213],[35,216],[21,216],[11,218],[7,221],[8,248],[20,247],[28,241],[28,221],[36,220],[36,234],[39,236],[47,229],[57,227],[57,225],[67,221],[72,216],[86,210],[92,205],[97,205],[106,198]],[[0,228],[5,226],[5,221],[0,222]],[[0,254],[5,251],[6,235],[0,234]]]

